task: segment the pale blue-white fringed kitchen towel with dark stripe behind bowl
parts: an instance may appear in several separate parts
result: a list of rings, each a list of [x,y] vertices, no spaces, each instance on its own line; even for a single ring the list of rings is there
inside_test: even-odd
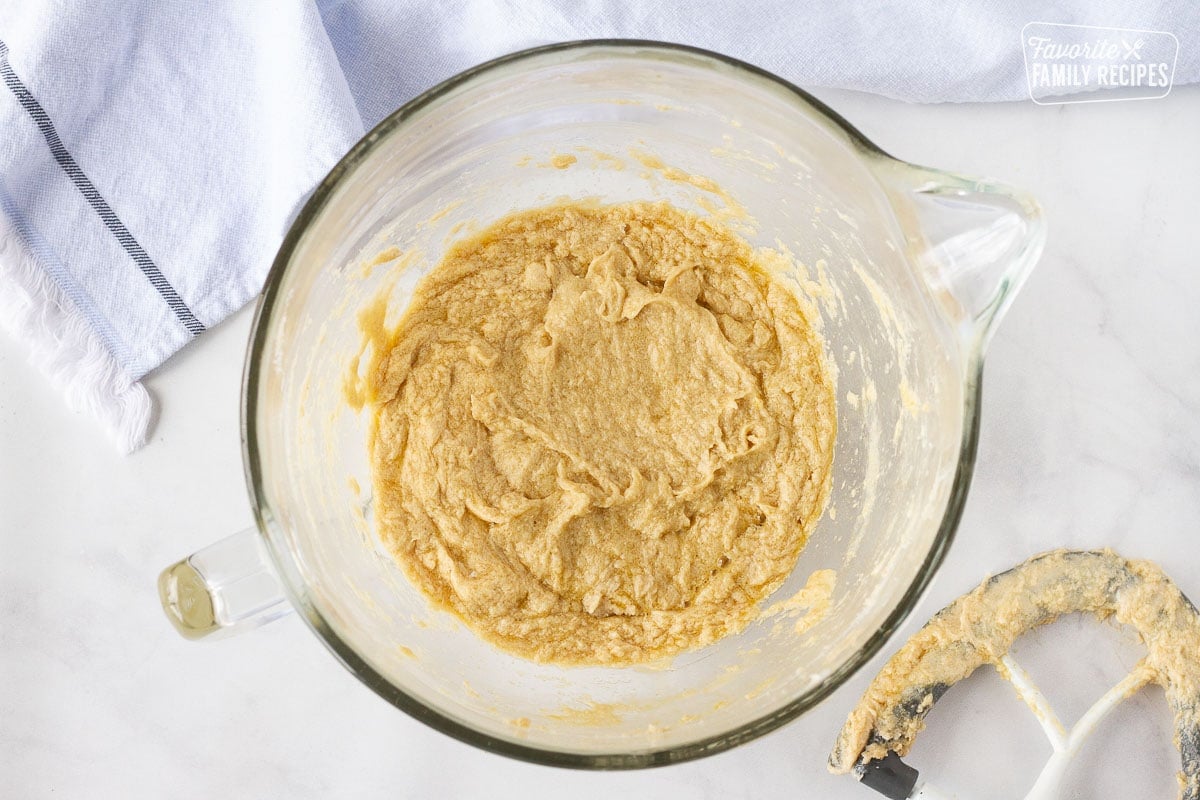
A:
[[[684,42],[800,85],[1026,97],[1034,20],[1168,30],[1194,0],[0,0],[0,325],[118,445],[140,379],[251,300],[312,187],[388,113],[479,61],[593,37]]]

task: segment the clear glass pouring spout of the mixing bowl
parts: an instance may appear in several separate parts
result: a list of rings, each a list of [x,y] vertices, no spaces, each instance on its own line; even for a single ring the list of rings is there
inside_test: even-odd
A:
[[[1045,246],[1037,201],[1002,184],[892,158],[875,169],[908,258],[942,300],[964,344],[983,354]]]

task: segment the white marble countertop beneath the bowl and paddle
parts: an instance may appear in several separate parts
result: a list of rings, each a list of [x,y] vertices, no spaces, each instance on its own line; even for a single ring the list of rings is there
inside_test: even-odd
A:
[[[986,572],[1056,546],[1159,560],[1200,599],[1200,89],[1081,106],[919,107],[818,92],[910,161],[1045,206],[1049,246],[991,345],[974,485],[911,633]],[[846,798],[846,711],[902,639],[814,712],[701,762],[588,774],[458,744],[376,698],[298,619],[181,639],[158,571],[251,523],[238,437],[250,314],[148,380],[152,439],[118,456],[0,337],[0,781],[5,798]],[[1136,648],[1067,620],[1021,657],[1069,720]],[[1198,655],[1200,657],[1200,655]],[[980,670],[910,759],[961,798],[1018,798],[1049,747]],[[1085,751],[1064,796],[1175,796],[1162,692]]]

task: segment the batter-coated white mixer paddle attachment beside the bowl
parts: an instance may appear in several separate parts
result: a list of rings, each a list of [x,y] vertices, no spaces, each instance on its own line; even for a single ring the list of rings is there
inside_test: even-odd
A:
[[[1016,638],[1084,612],[1136,631],[1146,656],[1068,732],[1008,651]],[[1111,551],[1054,551],[988,578],[940,610],[884,664],[851,711],[829,756],[892,800],[943,800],[901,760],[946,691],[989,663],[1033,711],[1054,748],[1025,800],[1051,800],[1087,735],[1147,684],[1163,687],[1175,716],[1180,799],[1200,800],[1200,613],[1158,565]]]

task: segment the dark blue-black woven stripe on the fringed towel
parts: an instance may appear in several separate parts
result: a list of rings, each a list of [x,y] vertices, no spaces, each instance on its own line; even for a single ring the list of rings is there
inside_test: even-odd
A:
[[[142,270],[142,275],[145,276],[150,285],[162,296],[162,299],[170,306],[170,309],[175,313],[176,319],[187,329],[187,331],[196,336],[204,332],[204,323],[196,319],[192,314],[192,309],[187,307],[179,293],[175,291],[175,287],[170,285],[166,277],[163,277],[162,271],[158,265],[154,263],[154,259],[145,252],[138,240],[133,237],[130,229],[125,227],[125,223],[120,221],[113,207],[108,205],[108,201],[100,196],[96,191],[95,185],[91,180],[79,169],[79,164],[76,163],[74,157],[67,151],[66,146],[62,144],[62,139],[59,138],[58,131],[54,130],[54,122],[50,121],[49,115],[42,108],[42,104],[30,94],[25,85],[20,82],[20,78],[12,71],[12,65],[8,64],[8,46],[0,41],[0,77],[4,77],[5,84],[13,95],[17,96],[17,102],[20,103],[22,108],[29,113],[37,125],[37,130],[42,132],[42,137],[46,138],[46,144],[50,149],[50,155],[54,156],[54,161],[59,163],[62,172],[67,174],[71,182],[74,184],[79,193],[83,194],[84,199],[88,200],[88,205],[100,216],[108,230],[116,237],[125,252],[130,254],[133,263],[138,265]]]

